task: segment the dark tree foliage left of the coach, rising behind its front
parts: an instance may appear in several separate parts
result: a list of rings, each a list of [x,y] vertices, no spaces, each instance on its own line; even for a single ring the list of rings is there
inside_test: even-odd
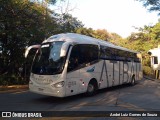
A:
[[[16,84],[17,79],[20,79],[18,78],[19,67],[25,62],[29,64],[32,62],[24,58],[26,46],[40,44],[53,34],[73,32],[83,26],[71,15],[59,15],[51,11],[43,2],[54,4],[56,0],[41,2],[37,0],[0,0],[1,80],[4,78],[9,83],[12,80]]]

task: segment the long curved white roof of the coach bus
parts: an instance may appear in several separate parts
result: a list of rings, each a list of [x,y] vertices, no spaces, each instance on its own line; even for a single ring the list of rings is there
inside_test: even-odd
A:
[[[136,51],[114,45],[110,42],[89,37],[86,35],[77,34],[77,33],[61,33],[61,34],[53,35],[49,37],[47,40],[43,41],[43,43],[53,42],[53,41],[66,41],[66,42],[79,43],[79,44],[96,44],[96,45],[102,45],[102,46],[112,47],[112,48],[116,48],[116,49],[120,49],[128,52],[137,53]]]

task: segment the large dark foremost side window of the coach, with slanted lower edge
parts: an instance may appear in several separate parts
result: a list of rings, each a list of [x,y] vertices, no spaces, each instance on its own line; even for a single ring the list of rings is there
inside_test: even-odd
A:
[[[72,48],[67,71],[84,67],[87,63],[98,60],[99,49],[97,45],[79,44]]]

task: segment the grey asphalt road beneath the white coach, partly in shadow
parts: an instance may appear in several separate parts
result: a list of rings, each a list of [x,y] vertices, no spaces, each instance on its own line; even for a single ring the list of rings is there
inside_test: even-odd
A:
[[[28,90],[0,92],[0,111],[160,111],[160,80],[143,79],[135,86],[121,85],[66,98]]]

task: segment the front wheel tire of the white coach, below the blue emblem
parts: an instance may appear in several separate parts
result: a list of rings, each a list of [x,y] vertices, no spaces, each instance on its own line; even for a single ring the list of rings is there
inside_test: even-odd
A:
[[[93,95],[96,94],[96,90],[97,90],[96,84],[93,83],[93,82],[89,82],[88,87],[87,87],[86,95],[87,96],[93,96]]]

